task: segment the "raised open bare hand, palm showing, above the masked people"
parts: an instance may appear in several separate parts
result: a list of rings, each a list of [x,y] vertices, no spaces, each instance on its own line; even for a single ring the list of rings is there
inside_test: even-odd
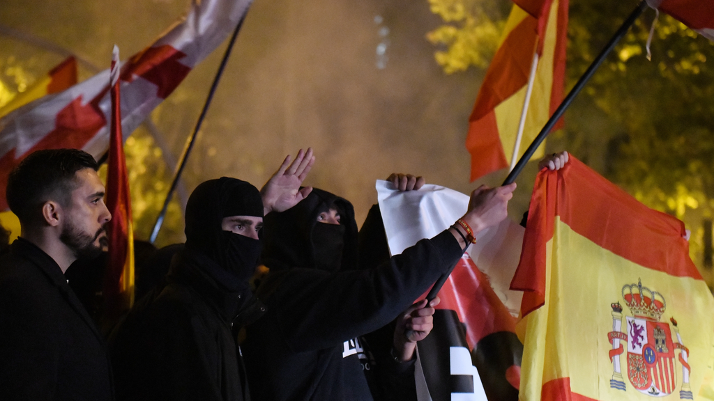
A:
[[[312,187],[300,188],[315,163],[312,148],[307,151],[300,149],[293,163],[290,163],[290,159],[290,155],[286,156],[278,171],[261,188],[264,215],[273,210],[288,210],[312,191]]]

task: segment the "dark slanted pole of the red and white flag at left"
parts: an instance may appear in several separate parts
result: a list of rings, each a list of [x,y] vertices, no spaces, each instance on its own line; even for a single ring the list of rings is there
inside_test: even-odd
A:
[[[164,218],[166,217],[166,211],[169,210],[169,203],[171,202],[171,196],[174,195],[176,186],[178,185],[178,180],[181,178],[181,173],[183,173],[183,168],[186,167],[186,161],[188,160],[188,155],[193,149],[193,143],[196,142],[196,136],[198,136],[198,130],[201,129],[201,123],[203,123],[203,118],[206,117],[206,112],[208,111],[208,106],[211,106],[211,100],[213,100],[213,94],[216,93],[216,88],[218,88],[218,81],[221,81],[221,75],[223,75],[223,69],[226,68],[228,63],[228,57],[231,56],[231,50],[233,49],[233,44],[236,43],[236,38],[238,37],[238,31],[241,31],[241,26],[243,26],[243,20],[246,19],[244,15],[241,21],[238,21],[236,29],[233,31],[233,36],[231,36],[231,41],[228,42],[228,48],[223,54],[223,59],[221,64],[218,66],[218,71],[216,72],[216,77],[213,78],[213,84],[211,84],[211,90],[208,91],[208,96],[206,97],[206,103],[203,104],[203,110],[201,110],[201,115],[198,116],[198,121],[196,121],[196,127],[193,128],[193,133],[186,140],[186,148],[183,149],[183,155],[181,156],[181,162],[176,166],[176,171],[174,172],[174,181],[171,182],[171,187],[169,187],[169,193],[166,193],[166,199],[164,200],[164,206],[161,208],[161,213],[159,217],[156,218],[156,223],[154,224],[154,230],[151,230],[151,237],[149,238],[150,243],[156,241],[156,237],[159,235],[159,230],[161,230],[161,225],[164,223]]]

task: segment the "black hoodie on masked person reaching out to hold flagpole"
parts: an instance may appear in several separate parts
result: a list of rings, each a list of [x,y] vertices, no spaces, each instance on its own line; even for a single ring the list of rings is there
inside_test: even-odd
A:
[[[313,245],[322,224],[316,218],[330,205],[344,231],[338,269],[318,267]],[[444,232],[360,269],[352,205],[318,189],[291,210],[267,215],[264,230],[263,263],[271,271],[257,295],[268,312],[248,325],[242,346],[253,399],[373,400],[361,336],[391,323],[446,273],[463,254],[458,242]]]

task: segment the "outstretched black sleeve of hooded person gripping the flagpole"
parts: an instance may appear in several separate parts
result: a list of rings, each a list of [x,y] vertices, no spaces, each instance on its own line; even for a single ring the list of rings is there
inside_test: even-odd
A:
[[[322,349],[391,322],[461,255],[458,241],[444,231],[378,268],[339,273],[291,269],[269,275],[258,297],[267,300],[291,350]]]

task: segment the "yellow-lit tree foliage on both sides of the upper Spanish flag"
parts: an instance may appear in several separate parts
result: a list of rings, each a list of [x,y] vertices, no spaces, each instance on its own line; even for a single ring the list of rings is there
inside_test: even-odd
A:
[[[433,11],[470,13],[459,19],[440,13],[444,26],[436,31],[451,30],[451,38],[476,34],[473,26],[453,21],[481,21],[476,23],[481,29],[502,24],[483,22],[483,11],[469,8],[473,1],[429,3]],[[607,7],[595,0],[570,2],[566,88],[575,84],[635,6],[630,1]],[[548,148],[567,149],[646,205],[683,219],[693,231],[691,255],[701,265],[703,222],[710,224],[714,214],[714,44],[660,14],[648,61],[645,44],[653,21],[651,9],[638,18],[568,109],[565,129],[551,134]],[[460,49],[467,44],[443,42],[448,49],[437,51],[439,64],[447,73],[456,71],[454,65],[484,68],[481,61],[463,56],[491,53],[491,36],[482,39],[470,39],[468,45],[478,49],[468,51]],[[442,60],[452,54],[454,61]]]

